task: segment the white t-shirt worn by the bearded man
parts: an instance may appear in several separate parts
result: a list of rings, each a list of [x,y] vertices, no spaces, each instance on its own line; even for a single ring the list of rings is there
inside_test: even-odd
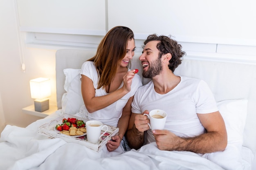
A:
[[[180,76],[180,83],[166,94],[155,92],[153,81],[140,87],[132,102],[132,113],[161,109],[166,111],[165,128],[180,137],[194,137],[204,133],[197,116],[218,111],[209,86],[200,79]],[[151,130],[148,143],[155,141]]]

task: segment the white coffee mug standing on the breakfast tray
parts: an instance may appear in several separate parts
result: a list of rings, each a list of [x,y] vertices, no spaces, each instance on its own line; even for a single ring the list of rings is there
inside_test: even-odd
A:
[[[102,137],[108,130],[108,126],[103,125],[100,121],[97,121],[97,120],[86,121],[85,127],[86,127],[87,141],[93,144],[98,143],[100,137]],[[106,130],[104,130],[104,132],[101,133],[101,130],[103,130],[103,128],[106,128]]]

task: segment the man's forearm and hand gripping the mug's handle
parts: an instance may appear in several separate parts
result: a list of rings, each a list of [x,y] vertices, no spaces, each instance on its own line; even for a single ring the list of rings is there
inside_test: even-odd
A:
[[[144,143],[144,131],[148,130],[149,120],[145,115],[132,113],[126,132],[128,145],[132,149],[139,149]]]

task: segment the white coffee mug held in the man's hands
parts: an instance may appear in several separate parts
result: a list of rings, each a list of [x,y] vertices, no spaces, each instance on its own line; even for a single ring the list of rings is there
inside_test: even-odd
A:
[[[163,130],[166,122],[167,113],[164,110],[151,110],[149,114],[143,114],[148,117],[150,123],[148,126],[151,130]]]

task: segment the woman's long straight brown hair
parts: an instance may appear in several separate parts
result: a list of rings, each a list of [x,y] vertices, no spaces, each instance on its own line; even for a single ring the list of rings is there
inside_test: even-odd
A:
[[[115,78],[119,63],[126,55],[128,40],[134,39],[131,29],[126,26],[115,26],[101,40],[97,52],[88,61],[94,62],[98,73],[98,89],[109,86]]]

